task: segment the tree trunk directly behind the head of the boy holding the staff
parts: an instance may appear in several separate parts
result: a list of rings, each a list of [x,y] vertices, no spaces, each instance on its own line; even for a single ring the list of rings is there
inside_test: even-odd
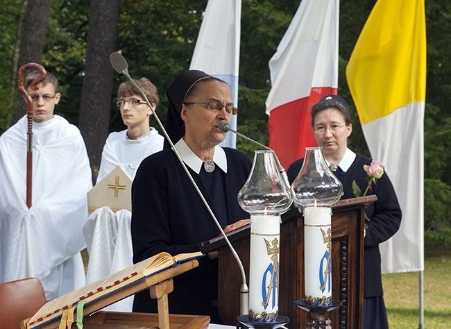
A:
[[[24,1],[27,2],[27,1]],[[22,27],[22,41],[20,42],[20,57],[13,81],[17,84],[17,71],[22,65],[29,62],[40,64],[44,51],[47,24],[49,23],[51,0],[33,0],[26,4],[26,15]],[[18,31],[20,31],[18,27]],[[17,121],[26,114],[26,103],[22,96],[17,107],[14,120]]]

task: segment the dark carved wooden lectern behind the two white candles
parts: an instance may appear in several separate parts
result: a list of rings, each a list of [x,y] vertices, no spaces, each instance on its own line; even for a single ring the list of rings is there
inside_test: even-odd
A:
[[[364,288],[364,207],[377,196],[341,200],[332,206],[332,299],[343,305],[330,314],[332,328],[362,328]],[[235,231],[234,231],[235,232]],[[250,226],[228,234],[249,275]],[[219,314],[229,325],[240,315],[241,274],[226,242],[210,240],[202,251],[219,251]],[[280,226],[279,314],[288,328],[305,328],[308,312],[295,305],[304,294],[304,217],[298,209],[282,214]],[[249,278],[248,278],[249,280]]]

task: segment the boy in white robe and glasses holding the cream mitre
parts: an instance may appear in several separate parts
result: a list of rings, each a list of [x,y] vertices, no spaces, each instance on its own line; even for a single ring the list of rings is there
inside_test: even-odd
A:
[[[157,108],[160,102],[157,87],[147,78],[135,80],[135,83],[144,91],[153,109]],[[118,165],[133,179],[141,161],[163,149],[164,137],[149,123],[153,112],[131,81],[119,86],[117,106],[127,129],[108,136],[96,183]],[[119,210],[114,214],[108,205],[95,210],[87,219],[83,232],[90,254],[86,275],[88,284],[133,264],[130,222],[130,211]],[[133,297],[130,297],[105,310],[131,312],[132,305]]]

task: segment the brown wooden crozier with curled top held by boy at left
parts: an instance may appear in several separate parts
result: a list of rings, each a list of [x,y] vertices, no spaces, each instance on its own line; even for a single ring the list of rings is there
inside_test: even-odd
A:
[[[39,83],[44,81],[47,76],[47,72],[44,67],[35,63],[28,63],[22,65],[19,69],[19,74],[17,74],[17,84],[19,87],[19,92],[22,93],[26,101],[26,119],[27,119],[27,131],[26,131],[26,205],[31,208],[31,182],[33,181],[33,100],[30,94],[24,86],[24,74],[27,69],[38,69],[41,73],[40,77],[31,83],[32,90],[38,90],[37,86]]]

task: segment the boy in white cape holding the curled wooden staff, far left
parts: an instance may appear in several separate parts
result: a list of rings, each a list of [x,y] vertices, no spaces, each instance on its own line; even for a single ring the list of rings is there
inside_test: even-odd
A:
[[[28,72],[27,72],[28,73]],[[25,87],[33,100],[32,205],[26,205],[26,116],[0,136],[0,282],[35,277],[47,300],[85,285],[80,251],[92,187],[80,130],[54,115],[58,81],[33,69]]]

